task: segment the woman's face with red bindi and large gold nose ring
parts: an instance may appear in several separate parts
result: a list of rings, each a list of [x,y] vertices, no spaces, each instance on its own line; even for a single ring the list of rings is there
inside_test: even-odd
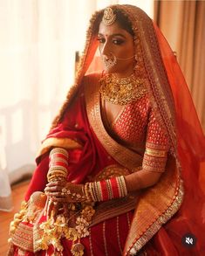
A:
[[[112,25],[99,24],[99,52],[107,73],[120,77],[133,73],[134,43],[133,36],[120,28],[118,22]]]

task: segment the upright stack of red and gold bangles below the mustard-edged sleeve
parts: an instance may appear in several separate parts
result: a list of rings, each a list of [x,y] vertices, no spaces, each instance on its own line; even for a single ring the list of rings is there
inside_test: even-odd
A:
[[[52,149],[49,155],[48,182],[66,179],[68,168],[68,153],[65,149]]]

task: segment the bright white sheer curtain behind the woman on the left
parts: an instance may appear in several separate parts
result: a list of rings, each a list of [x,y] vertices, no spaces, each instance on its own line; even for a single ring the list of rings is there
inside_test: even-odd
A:
[[[152,0],[0,1],[0,210],[12,208],[10,183],[35,168],[39,144],[72,85],[89,18],[113,3],[153,15]]]

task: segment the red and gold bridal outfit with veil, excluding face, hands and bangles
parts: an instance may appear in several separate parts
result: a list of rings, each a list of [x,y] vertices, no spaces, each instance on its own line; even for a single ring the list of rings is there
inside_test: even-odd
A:
[[[97,48],[95,25],[100,11],[96,12],[75,85],[42,143],[22,210],[11,224],[10,255],[82,255],[71,252],[75,243],[85,246],[84,255],[205,252],[204,193],[199,179],[204,136],[186,82],[152,20],[132,5],[115,8],[126,13],[137,38],[135,77],[143,82],[136,89],[136,100],[121,107],[110,123],[99,93],[101,73],[85,75]],[[67,180],[72,183],[125,176],[142,168],[164,171],[153,187],[81,205],[85,208],[80,211],[76,206],[76,215],[88,209],[91,219],[85,237],[73,242],[76,226],[69,230],[61,218],[51,233],[44,215],[43,191],[52,148],[69,153]],[[197,239],[192,248],[181,243],[186,233]]]

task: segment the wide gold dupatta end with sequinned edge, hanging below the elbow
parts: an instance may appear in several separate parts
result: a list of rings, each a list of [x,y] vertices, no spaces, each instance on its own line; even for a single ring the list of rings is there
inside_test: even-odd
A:
[[[170,156],[167,170],[160,182],[141,193],[126,239],[123,255],[135,255],[152,239],[161,225],[178,211],[183,198],[183,186],[174,157]]]

